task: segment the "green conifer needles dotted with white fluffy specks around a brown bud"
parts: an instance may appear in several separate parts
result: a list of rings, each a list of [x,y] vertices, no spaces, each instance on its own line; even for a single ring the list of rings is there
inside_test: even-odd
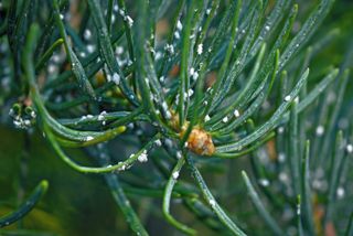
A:
[[[0,6],[3,122],[11,117],[29,140],[43,133],[67,167],[104,176],[135,234],[149,234],[146,214],[188,235],[352,234],[352,207],[339,214],[336,201],[353,196],[353,46],[343,58],[315,62],[325,45],[351,39],[321,25],[333,0]],[[225,183],[210,187],[218,170]],[[233,191],[249,200],[227,204]],[[141,214],[147,197],[162,202]]]

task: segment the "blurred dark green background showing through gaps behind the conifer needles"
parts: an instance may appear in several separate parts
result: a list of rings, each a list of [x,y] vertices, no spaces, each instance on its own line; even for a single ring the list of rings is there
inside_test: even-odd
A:
[[[2,8],[8,2],[0,0],[1,21],[4,20],[6,15]],[[314,0],[298,1],[298,19],[306,19],[309,10],[318,2]],[[133,12],[136,10],[133,3],[133,1],[127,1],[127,8],[131,10],[132,17],[135,17]],[[49,13],[43,12],[43,14]],[[297,28],[300,28],[300,23],[297,23]],[[168,30],[168,19],[162,19],[159,25]],[[352,25],[353,1],[338,0],[312,41],[324,37],[332,29],[339,29],[339,33],[335,34],[332,42],[320,49],[320,52],[314,56],[310,64],[312,73],[321,72],[322,67],[332,64],[341,65],[353,40]],[[4,43],[3,40],[0,41],[0,44]],[[352,66],[353,63],[350,63]],[[4,67],[0,69],[4,69]],[[317,82],[310,81],[309,83],[309,87],[311,87]],[[352,122],[353,119],[352,84],[349,83],[347,85],[344,109],[342,109],[345,117],[351,118],[349,122]],[[6,85],[1,86],[4,87]],[[130,235],[131,232],[128,229],[126,219],[114,203],[104,179],[99,175],[82,174],[69,169],[54,154],[41,133],[38,133],[38,130],[30,130],[30,136],[26,136],[26,131],[18,130],[9,125],[11,124],[8,116],[9,107],[4,106],[2,96],[0,96],[0,215],[15,208],[40,180],[46,179],[50,182],[49,191],[39,205],[19,223],[0,229],[0,235]],[[314,128],[312,127],[312,130]],[[110,151],[128,155],[130,150],[133,149],[133,146],[129,147],[129,140],[133,142],[133,137],[117,137],[109,144]],[[121,143],[126,144],[122,146]],[[85,157],[83,151],[75,150],[74,153],[76,157]],[[150,155],[156,157],[163,154],[158,150],[150,153]],[[84,162],[85,160],[82,159],[81,161]],[[122,180],[126,179],[130,182],[136,179],[149,181],[148,175],[152,174],[149,170],[149,163],[147,163],[143,167],[133,167],[132,170],[122,172],[120,175]],[[229,212],[236,213],[240,222],[252,225],[252,228],[246,228],[249,235],[271,235],[266,233],[264,222],[258,219],[249,199],[245,197],[246,187],[242,180],[242,170],[250,172],[248,158],[220,160],[215,161],[213,165],[202,168],[204,178],[210,189],[214,190],[221,205],[226,210],[232,210]],[[190,178],[186,173],[182,174],[185,174],[185,176],[183,175],[185,179]],[[347,179],[351,180],[347,189],[353,189],[352,171],[349,172]],[[138,189],[138,184],[136,189]],[[161,196],[148,197],[131,194],[136,189],[126,187],[126,192],[150,235],[180,235],[181,233],[161,219]],[[350,197],[352,200],[352,196]],[[345,203],[340,205],[338,202],[335,214],[341,214],[340,210],[343,210],[343,213],[345,207],[350,207],[352,211],[352,205],[346,206]],[[183,222],[196,224],[195,227],[200,235],[217,235],[216,232],[212,232],[197,223],[197,219],[186,210],[175,207],[173,213],[175,217]]]

